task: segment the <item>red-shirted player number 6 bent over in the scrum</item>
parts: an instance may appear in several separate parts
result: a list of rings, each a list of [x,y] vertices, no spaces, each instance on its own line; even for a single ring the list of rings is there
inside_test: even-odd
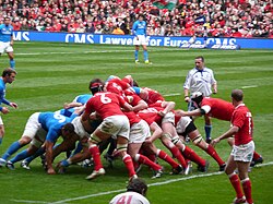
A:
[[[124,110],[131,111],[132,106],[126,103],[124,99],[117,94],[103,92],[104,84],[99,79],[92,80],[90,85],[94,96],[86,104],[86,109],[82,115],[82,122],[88,122],[90,115],[95,111],[100,116],[103,122],[91,134],[88,141],[90,152],[94,159],[94,170],[86,179],[91,180],[100,175],[105,175],[97,144],[110,136],[117,139],[117,154],[122,157],[123,164],[129,171],[130,179],[138,177],[133,168],[132,158],[127,154],[130,131],[129,120],[120,109],[122,107]]]

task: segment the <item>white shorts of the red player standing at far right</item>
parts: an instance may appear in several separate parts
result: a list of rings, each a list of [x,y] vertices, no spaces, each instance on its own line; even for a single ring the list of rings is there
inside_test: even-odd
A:
[[[232,156],[234,156],[234,160],[250,163],[252,160],[254,153],[254,142],[251,141],[248,144],[233,146]]]

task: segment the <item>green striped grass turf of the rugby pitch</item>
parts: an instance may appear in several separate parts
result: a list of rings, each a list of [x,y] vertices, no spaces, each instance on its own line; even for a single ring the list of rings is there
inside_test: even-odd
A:
[[[273,51],[272,50],[186,50],[179,48],[150,47],[152,65],[134,64],[133,47],[99,46],[80,44],[44,44],[15,43],[16,81],[8,85],[7,98],[19,105],[17,110],[1,116],[5,125],[5,137],[0,145],[2,155],[9,145],[21,137],[27,118],[35,111],[55,111],[64,101],[70,101],[79,94],[87,93],[88,82],[93,77],[107,79],[115,74],[124,76],[131,74],[141,86],[157,89],[167,100],[176,101],[177,108],[186,109],[182,85],[185,77],[194,65],[197,56],[204,56],[206,65],[214,70],[218,81],[219,97],[229,100],[233,88],[244,88],[245,103],[254,117],[254,141],[257,151],[264,157],[264,163],[273,161],[271,125],[273,120]],[[0,67],[9,67],[8,57],[0,58]],[[197,120],[202,135],[203,119]],[[225,132],[229,123],[213,120],[213,137]],[[159,147],[162,145],[157,143]],[[217,172],[216,163],[199,148],[190,146],[203,158],[210,160],[209,172],[202,178],[197,172],[189,176],[169,176],[169,166],[161,161],[166,173],[156,180],[150,179],[152,172],[143,168],[140,176],[151,185],[147,199],[154,204],[191,203],[223,204],[230,203],[235,196],[227,179]],[[164,147],[163,147],[164,148]],[[165,149],[165,148],[164,148]],[[230,147],[226,142],[216,146],[218,154],[227,159]],[[64,158],[60,155],[59,161]],[[105,161],[104,161],[105,163]],[[105,163],[107,166],[107,164]],[[72,166],[66,175],[48,176],[40,166],[39,159],[32,163],[31,171],[20,168],[10,171],[0,169],[0,203],[107,203],[117,192],[94,195],[103,192],[122,190],[128,180],[127,171],[120,160],[115,168],[106,167],[107,175],[94,181],[84,178],[92,168],[84,169]],[[273,167],[254,168],[250,173],[253,187],[253,199],[258,204],[272,203]],[[168,184],[161,182],[170,179],[185,179]],[[71,200],[78,197],[75,200]]]

